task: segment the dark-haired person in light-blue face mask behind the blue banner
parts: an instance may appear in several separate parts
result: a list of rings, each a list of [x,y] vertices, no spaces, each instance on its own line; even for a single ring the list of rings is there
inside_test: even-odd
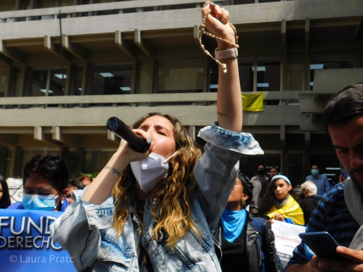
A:
[[[68,185],[68,169],[56,154],[44,153],[25,164],[22,202],[15,202],[8,209],[62,211],[68,201],[62,201]]]

